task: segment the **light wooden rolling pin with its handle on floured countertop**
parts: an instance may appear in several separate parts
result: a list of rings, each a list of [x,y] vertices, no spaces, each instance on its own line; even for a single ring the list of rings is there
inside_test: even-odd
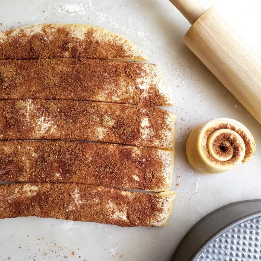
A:
[[[184,43],[261,124],[261,58],[256,51],[230,28],[216,4],[205,10],[196,1],[170,2],[192,25]]]

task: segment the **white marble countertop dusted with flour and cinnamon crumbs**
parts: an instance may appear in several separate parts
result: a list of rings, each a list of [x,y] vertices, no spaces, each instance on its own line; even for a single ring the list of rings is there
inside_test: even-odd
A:
[[[214,1],[201,2],[209,7]],[[258,28],[254,18],[249,16],[250,27],[242,21],[245,33]],[[1,1],[0,19],[0,30],[45,22],[91,23],[124,35],[162,68],[176,102],[167,109],[178,115],[171,186],[178,194],[166,227],[121,228],[36,217],[0,220],[1,260],[167,261],[207,213],[230,202],[261,198],[261,125],[183,44],[190,25],[168,1]],[[216,117],[245,124],[257,152],[250,163],[227,173],[200,175],[187,161],[186,139],[195,125]]]

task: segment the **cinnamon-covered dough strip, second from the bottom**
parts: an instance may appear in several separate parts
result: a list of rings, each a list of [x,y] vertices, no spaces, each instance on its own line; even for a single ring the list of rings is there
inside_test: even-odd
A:
[[[168,191],[174,151],[134,146],[1,141],[0,181],[67,182]]]

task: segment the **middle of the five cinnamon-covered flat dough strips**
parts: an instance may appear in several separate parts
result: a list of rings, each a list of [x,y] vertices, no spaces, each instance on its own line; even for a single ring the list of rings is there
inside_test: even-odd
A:
[[[174,148],[175,114],[75,100],[0,100],[0,139],[104,141]]]

